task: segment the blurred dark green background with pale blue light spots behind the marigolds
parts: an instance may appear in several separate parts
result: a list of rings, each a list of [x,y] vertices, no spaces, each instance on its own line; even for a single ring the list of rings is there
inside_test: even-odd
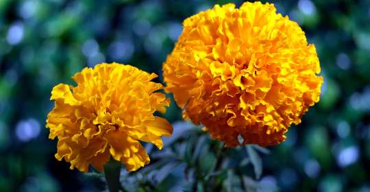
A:
[[[182,21],[212,8],[215,3],[228,2],[242,3],[212,0],[1,0],[0,191],[104,189],[99,176],[94,173],[86,176],[70,170],[69,164],[53,157],[56,141],[47,139],[49,130],[45,129],[47,112],[53,108],[49,101],[51,88],[61,82],[73,84],[71,76],[74,73],[99,62],[132,64],[161,74],[162,62],[182,31]],[[300,125],[289,130],[288,139],[282,145],[269,147],[269,154],[260,153],[263,149],[256,153],[257,150],[247,148],[254,167],[240,170],[253,179],[246,176],[232,178],[238,176],[238,170],[229,159],[222,161],[225,165],[219,168],[227,171],[208,173],[209,177],[212,174],[219,177],[208,181],[216,186],[221,184],[219,190],[222,191],[245,191],[244,184],[253,183],[262,187],[252,191],[370,191],[370,1],[288,0],[271,3],[275,4],[277,12],[297,21],[306,32],[308,42],[317,47],[324,77],[321,101],[310,108]],[[162,82],[161,75],[157,81]],[[181,129],[191,126],[181,122],[180,109],[175,104],[165,116],[175,122],[177,136],[182,134]],[[203,180],[204,177],[197,174],[198,169],[217,169],[211,166],[208,170],[207,162],[204,164],[201,160],[213,160],[214,166],[219,164],[217,149],[212,150],[218,144],[199,132],[185,140],[195,143],[194,150],[183,140],[174,141],[177,144],[171,145],[175,146],[171,150],[175,154],[184,150],[186,157],[187,153],[207,153],[208,148],[196,147],[204,145],[210,147],[211,155],[200,157],[191,169],[167,162],[161,169],[153,169],[154,172],[157,169],[157,175],[148,169],[143,175],[141,172],[130,173],[123,182],[127,182],[127,186],[138,182],[139,187],[132,189],[139,191],[181,191],[186,189],[184,183],[191,185],[188,191],[207,191],[207,185],[202,187],[202,182],[187,181],[186,171],[195,170],[195,178]],[[147,148],[151,150],[151,146]],[[245,152],[235,150],[240,150],[241,154]],[[164,156],[154,151],[154,163],[156,155]],[[263,172],[260,178],[255,178],[249,169],[256,171],[258,162],[254,159],[258,156],[262,158]],[[243,159],[244,156],[236,158]],[[140,188],[145,186],[140,182],[143,176],[153,174],[158,185]],[[174,182],[167,177],[170,175],[182,180]],[[130,180],[131,176],[135,181]],[[278,189],[264,189],[267,185]]]

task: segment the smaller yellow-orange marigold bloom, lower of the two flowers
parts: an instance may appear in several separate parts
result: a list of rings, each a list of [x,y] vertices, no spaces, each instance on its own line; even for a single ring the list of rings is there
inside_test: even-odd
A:
[[[165,112],[169,99],[151,82],[154,73],[123,64],[98,64],[73,76],[77,86],[58,84],[51,92],[55,108],[47,117],[49,139],[58,137],[58,160],[71,169],[100,171],[110,156],[134,171],[149,163],[140,141],[162,148],[160,136],[170,136],[172,126],[156,117]]]

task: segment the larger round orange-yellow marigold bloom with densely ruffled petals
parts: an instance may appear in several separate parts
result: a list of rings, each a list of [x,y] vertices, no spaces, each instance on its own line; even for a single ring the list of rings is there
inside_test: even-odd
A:
[[[166,91],[184,118],[226,146],[281,143],[319,101],[323,77],[315,47],[273,4],[215,5],[183,25],[164,62]]]

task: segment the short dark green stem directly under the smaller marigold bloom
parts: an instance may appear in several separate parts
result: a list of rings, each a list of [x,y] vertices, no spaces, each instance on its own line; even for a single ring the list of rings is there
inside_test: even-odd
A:
[[[104,176],[108,184],[110,192],[118,192],[121,189],[121,182],[119,182],[119,175],[121,174],[121,163],[111,159],[104,165]]]

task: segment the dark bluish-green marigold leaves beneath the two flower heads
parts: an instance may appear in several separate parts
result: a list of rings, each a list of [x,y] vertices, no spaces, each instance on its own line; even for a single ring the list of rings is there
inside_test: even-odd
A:
[[[175,132],[164,139],[161,151],[147,144],[151,163],[138,171],[121,172],[126,191],[275,191],[273,183],[256,178],[262,173],[258,151],[269,151],[256,145],[227,149],[223,143],[189,122],[174,123]],[[103,179],[101,174],[88,176]],[[104,187],[102,188],[104,189]]]

